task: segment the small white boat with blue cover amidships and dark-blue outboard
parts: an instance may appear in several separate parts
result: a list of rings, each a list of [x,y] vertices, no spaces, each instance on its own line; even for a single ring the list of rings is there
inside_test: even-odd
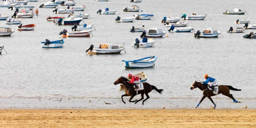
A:
[[[131,45],[132,47],[152,47],[154,43],[156,43],[156,41],[153,38],[148,40],[148,38],[144,37],[141,42],[138,38],[136,38]]]

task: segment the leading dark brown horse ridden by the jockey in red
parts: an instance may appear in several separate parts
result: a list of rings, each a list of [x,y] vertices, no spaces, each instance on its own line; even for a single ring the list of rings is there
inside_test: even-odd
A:
[[[145,95],[147,96],[147,98],[146,98],[145,100],[143,100],[143,102],[142,102],[142,105],[144,105],[144,102],[149,99],[149,96],[148,96],[148,93],[149,93],[149,92],[151,92],[152,90],[156,90],[156,92],[158,92],[158,93],[161,94],[162,91],[163,91],[163,89],[157,89],[155,86],[150,85],[150,84],[148,84],[147,82],[143,82],[144,90],[139,90],[139,91],[138,91],[138,94],[141,95],[140,100],[133,100],[133,101],[131,101],[132,98],[133,98],[134,96],[136,96],[136,91],[135,91],[135,89],[134,89],[134,87],[133,87],[133,84],[130,84],[130,83],[128,83],[127,81],[129,81],[129,79],[127,79],[126,77],[121,76],[120,78],[118,78],[118,79],[114,82],[115,85],[116,85],[116,84],[123,84],[123,85],[124,85],[125,94],[122,95],[122,97],[121,97],[123,102],[124,102],[124,100],[123,100],[123,97],[124,97],[124,96],[131,96],[129,102],[135,102],[135,104],[136,104],[136,103],[139,102],[140,100],[143,100],[143,99],[144,99],[144,94],[145,94]],[[124,104],[125,104],[125,102],[124,102]]]

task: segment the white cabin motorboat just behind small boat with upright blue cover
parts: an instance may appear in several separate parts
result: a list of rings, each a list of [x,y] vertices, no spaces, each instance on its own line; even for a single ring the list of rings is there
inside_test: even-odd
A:
[[[148,32],[145,30],[140,34],[140,37],[162,37],[166,34],[162,29],[158,29],[157,27],[148,29]]]

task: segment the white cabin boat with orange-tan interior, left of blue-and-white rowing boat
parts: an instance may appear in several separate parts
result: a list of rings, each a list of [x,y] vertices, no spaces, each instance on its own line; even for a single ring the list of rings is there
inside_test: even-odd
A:
[[[87,54],[119,54],[124,50],[124,45],[119,46],[117,44],[103,44],[101,43],[98,47],[86,48]]]

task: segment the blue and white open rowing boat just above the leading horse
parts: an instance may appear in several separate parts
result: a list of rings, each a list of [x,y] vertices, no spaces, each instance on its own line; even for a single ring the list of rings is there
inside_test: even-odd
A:
[[[122,62],[124,62],[125,68],[150,68],[155,65],[156,59],[157,57],[155,56],[149,56],[139,60],[132,60],[132,61],[122,60]]]

